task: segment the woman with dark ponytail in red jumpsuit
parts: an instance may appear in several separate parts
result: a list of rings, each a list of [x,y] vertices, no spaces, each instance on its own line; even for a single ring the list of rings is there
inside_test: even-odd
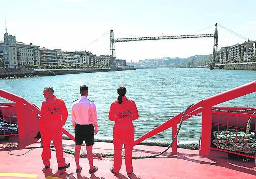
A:
[[[114,144],[114,167],[110,171],[118,174],[122,164],[121,150],[125,148],[125,166],[127,174],[133,172],[132,157],[134,143],[134,125],[132,120],[138,119],[139,114],[135,101],[125,97],[126,88],[118,87],[118,99],[114,101],[109,110],[108,118],[114,121],[113,144]]]

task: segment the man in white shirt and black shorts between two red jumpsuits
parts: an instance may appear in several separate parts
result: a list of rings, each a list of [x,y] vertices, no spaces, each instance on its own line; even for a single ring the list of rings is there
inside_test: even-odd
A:
[[[75,129],[75,161],[77,164],[76,173],[80,173],[82,167],[79,165],[80,150],[83,141],[86,144],[87,158],[90,164],[89,173],[96,172],[97,166],[93,166],[92,146],[94,144],[94,135],[98,133],[98,122],[96,106],[93,101],[87,99],[88,87],[86,85],[80,86],[81,98],[75,100],[72,105],[71,122]]]

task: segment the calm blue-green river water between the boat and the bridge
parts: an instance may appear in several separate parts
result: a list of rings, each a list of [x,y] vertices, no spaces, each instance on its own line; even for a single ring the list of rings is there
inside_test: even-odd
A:
[[[204,68],[163,68],[137,69],[120,72],[99,72],[87,74],[69,74],[39,78],[1,79],[0,88],[13,92],[41,106],[43,88],[54,87],[54,94],[62,98],[71,113],[74,100],[80,98],[80,85],[89,87],[88,98],[93,100],[98,115],[108,115],[110,103],[116,100],[119,85],[127,88],[127,97],[135,100],[140,115],[176,115],[188,105],[208,96],[232,89],[256,80],[256,71],[209,70]],[[6,102],[0,98],[1,102]],[[255,93],[228,101],[226,106],[256,107]],[[168,118],[139,118],[134,121],[135,138],[154,129]],[[99,117],[99,136],[112,137],[113,122],[107,117]],[[70,116],[65,124],[70,132]],[[170,140],[171,129],[151,139]],[[198,139],[201,133],[200,116],[183,122],[179,140]]]

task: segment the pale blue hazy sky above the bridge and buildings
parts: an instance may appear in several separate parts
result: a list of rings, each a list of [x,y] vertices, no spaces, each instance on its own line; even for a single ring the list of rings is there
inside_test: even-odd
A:
[[[102,35],[110,29],[115,38],[151,37],[214,33],[215,23],[256,40],[256,1],[250,0],[8,0],[0,7],[0,40],[6,15],[17,41],[63,51],[109,54],[110,34]],[[244,41],[220,27],[218,32],[219,49]],[[213,38],[118,42],[115,48],[116,57],[129,62],[189,57],[212,54]]]

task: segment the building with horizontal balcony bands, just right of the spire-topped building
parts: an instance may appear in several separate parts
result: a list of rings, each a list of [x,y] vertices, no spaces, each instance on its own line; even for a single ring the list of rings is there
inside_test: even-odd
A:
[[[57,50],[50,50],[47,48],[39,48],[41,66],[50,65],[57,66]]]

